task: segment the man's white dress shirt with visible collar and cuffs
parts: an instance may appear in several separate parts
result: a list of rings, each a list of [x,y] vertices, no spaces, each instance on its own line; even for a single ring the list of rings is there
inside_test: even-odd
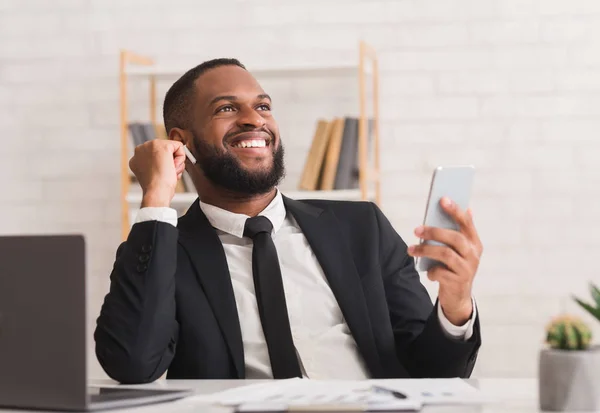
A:
[[[252,276],[252,240],[244,238],[247,215],[235,214],[200,202],[200,208],[216,229],[231,275],[242,331],[246,378],[272,378],[271,363],[260,322]],[[286,213],[281,193],[259,214],[273,224],[290,328],[300,366],[312,379],[365,379],[369,377],[354,338],[346,324],[327,278],[308,241],[291,214]],[[157,220],[177,226],[171,208],[142,208],[136,222]],[[445,332],[468,340],[473,334],[474,312],[467,324],[455,326],[438,306]]]

